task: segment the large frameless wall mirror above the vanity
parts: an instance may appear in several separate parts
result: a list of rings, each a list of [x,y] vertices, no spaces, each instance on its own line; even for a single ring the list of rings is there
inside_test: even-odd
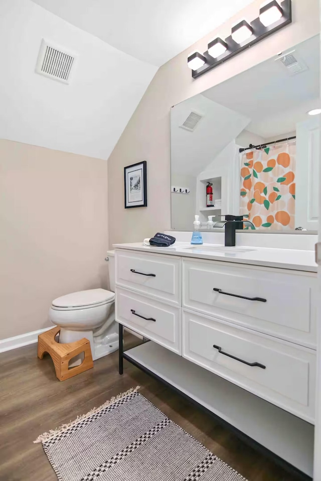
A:
[[[174,106],[172,228],[317,230],[320,112],[318,36]]]

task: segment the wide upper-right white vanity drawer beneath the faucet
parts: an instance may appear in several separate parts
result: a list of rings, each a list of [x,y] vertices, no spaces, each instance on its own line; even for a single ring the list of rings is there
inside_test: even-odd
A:
[[[184,260],[183,272],[183,307],[315,349],[313,273],[203,260]]]

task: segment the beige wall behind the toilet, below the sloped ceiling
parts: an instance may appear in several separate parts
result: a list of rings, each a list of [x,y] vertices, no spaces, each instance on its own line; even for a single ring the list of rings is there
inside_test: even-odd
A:
[[[105,287],[107,161],[0,140],[0,339],[50,326],[51,301]]]

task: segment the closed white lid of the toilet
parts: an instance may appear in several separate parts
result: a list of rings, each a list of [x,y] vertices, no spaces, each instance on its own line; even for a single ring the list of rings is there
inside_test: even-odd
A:
[[[55,307],[81,307],[94,306],[102,302],[111,301],[115,294],[105,289],[90,289],[88,291],[79,291],[61,296],[52,302]]]

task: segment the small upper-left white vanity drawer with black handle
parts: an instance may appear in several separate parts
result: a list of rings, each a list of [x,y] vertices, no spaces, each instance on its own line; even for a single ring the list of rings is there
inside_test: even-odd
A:
[[[116,284],[181,305],[181,258],[116,251]]]

